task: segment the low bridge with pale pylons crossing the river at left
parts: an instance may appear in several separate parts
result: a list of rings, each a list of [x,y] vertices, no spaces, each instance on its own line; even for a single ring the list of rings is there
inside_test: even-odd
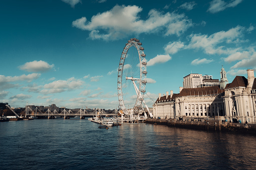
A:
[[[53,112],[51,112],[49,109],[46,112],[42,112],[40,111],[37,107],[35,110],[32,110],[29,106],[26,107],[26,116],[48,116],[52,117],[52,116],[64,116],[65,117],[69,117],[69,116],[80,116],[80,118],[84,118],[84,117],[92,117],[92,116],[96,116],[96,115],[101,115],[101,116],[117,116],[117,110],[114,110],[112,113],[106,113],[104,110],[102,109],[96,109],[94,112],[90,112],[88,113],[86,111],[86,109],[82,110],[80,109],[77,112],[72,112],[71,109],[69,110],[62,110],[60,113],[56,110],[54,110]]]

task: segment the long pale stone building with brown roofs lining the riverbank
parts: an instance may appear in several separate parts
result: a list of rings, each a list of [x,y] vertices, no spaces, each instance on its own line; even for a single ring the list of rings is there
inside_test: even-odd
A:
[[[226,72],[221,69],[220,86],[180,88],[179,94],[166,92],[153,104],[155,118],[221,119],[256,123],[256,79],[253,70],[247,70],[247,79],[236,76],[226,84]],[[226,84],[224,89],[220,87]]]

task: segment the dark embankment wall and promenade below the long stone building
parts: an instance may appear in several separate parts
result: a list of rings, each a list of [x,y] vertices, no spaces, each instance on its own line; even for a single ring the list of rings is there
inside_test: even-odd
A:
[[[176,119],[146,119],[145,123],[195,130],[229,131],[256,135],[256,124],[222,122],[221,120],[181,121]]]

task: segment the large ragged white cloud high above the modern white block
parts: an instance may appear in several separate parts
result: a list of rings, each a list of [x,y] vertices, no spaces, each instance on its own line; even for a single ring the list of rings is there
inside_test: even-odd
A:
[[[203,49],[206,54],[232,54],[237,49],[224,48],[219,46],[221,43],[238,43],[239,37],[242,37],[244,27],[236,26],[228,31],[220,31],[210,36],[201,34],[191,34],[188,49]]]

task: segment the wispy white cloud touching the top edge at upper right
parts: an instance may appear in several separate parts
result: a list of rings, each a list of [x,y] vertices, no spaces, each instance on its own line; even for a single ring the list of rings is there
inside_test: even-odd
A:
[[[220,11],[224,11],[226,8],[235,7],[241,2],[242,0],[230,0],[228,3],[223,0],[213,0],[210,2],[210,7],[207,12],[218,13]]]

